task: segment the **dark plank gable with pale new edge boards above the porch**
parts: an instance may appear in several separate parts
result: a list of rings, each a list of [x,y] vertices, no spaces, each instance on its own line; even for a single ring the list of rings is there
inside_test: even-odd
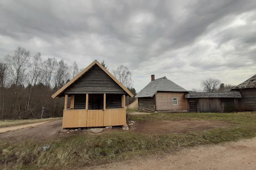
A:
[[[88,72],[91,73],[88,74]],[[96,86],[96,88],[94,86]],[[87,68],[84,68],[84,70],[70,80],[70,82],[67,82],[66,85],[52,95],[52,98],[55,98],[56,96],[63,96],[64,94],[75,94],[75,92],[76,94],[112,93],[128,94],[131,97],[134,96],[97,60],[88,65]]]

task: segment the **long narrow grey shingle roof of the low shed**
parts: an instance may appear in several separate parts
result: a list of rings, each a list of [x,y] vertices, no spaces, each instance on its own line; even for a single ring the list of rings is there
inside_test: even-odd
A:
[[[225,92],[192,92],[185,94],[185,98],[241,98],[239,91]]]

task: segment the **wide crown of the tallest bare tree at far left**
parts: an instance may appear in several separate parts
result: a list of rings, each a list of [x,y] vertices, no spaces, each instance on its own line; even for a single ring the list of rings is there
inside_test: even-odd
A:
[[[21,47],[17,47],[13,56],[6,56],[12,84],[17,86],[24,85],[29,57],[30,52]]]

